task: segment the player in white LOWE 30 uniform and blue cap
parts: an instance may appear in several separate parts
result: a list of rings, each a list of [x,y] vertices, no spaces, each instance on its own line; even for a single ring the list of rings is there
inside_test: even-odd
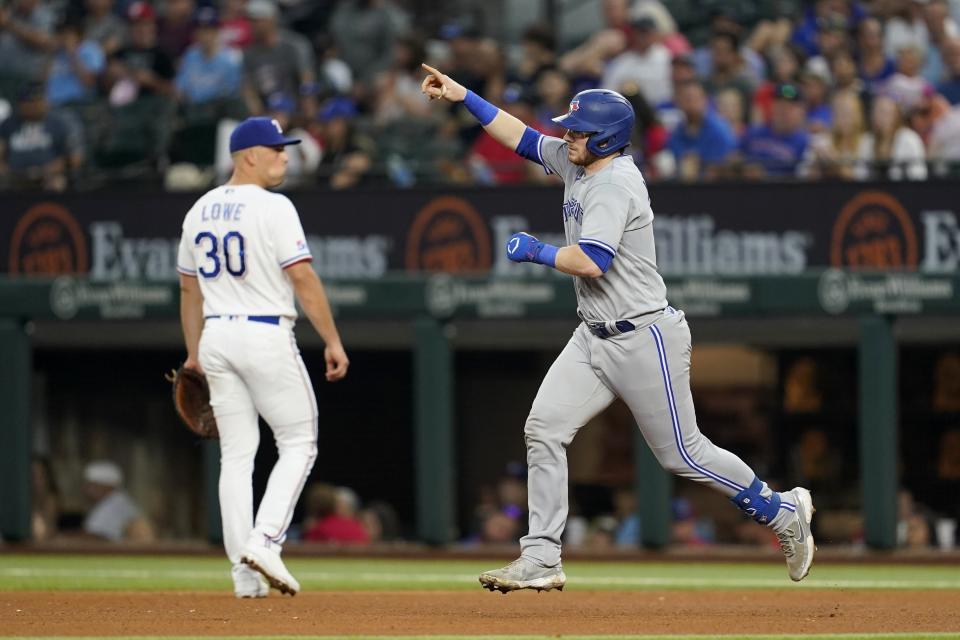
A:
[[[177,269],[184,366],[206,374],[220,431],[220,510],[234,593],[259,598],[300,590],[280,559],[293,509],[317,457],[317,402],[293,335],[294,296],[326,345],[326,378],[349,360],[313,271],[297,210],[268,188],[283,182],[287,145],[276,120],[249,118],[230,137],[230,180],[187,213]],[[253,517],[258,415],[279,459]]]

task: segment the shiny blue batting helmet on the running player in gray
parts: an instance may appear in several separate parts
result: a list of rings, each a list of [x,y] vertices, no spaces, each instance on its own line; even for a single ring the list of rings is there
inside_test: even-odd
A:
[[[573,96],[570,111],[553,119],[570,131],[589,133],[587,150],[608,156],[630,144],[633,105],[616,91],[588,89]]]

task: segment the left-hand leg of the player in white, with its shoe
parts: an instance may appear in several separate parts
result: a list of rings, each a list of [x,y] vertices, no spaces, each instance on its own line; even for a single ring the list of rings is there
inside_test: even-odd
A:
[[[233,565],[238,598],[266,595],[260,580],[240,559],[253,529],[253,461],[260,444],[257,411],[243,380],[230,361],[236,352],[234,329],[216,323],[200,341],[200,365],[210,385],[210,404],[220,432],[220,519],[223,545]]]

